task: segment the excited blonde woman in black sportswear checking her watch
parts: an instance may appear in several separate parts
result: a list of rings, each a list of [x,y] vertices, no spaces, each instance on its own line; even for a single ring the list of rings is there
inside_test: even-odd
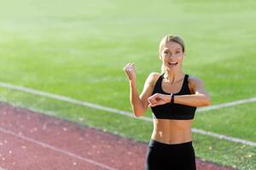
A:
[[[135,116],[143,116],[148,106],[154,117],[154,131],[148,144],[146,170],[194,170],[195,152],[191,122],[197,106],[210,105],[203,82],[182,71],[185,57],[183,39],[167,35],[160,42],[162,73],[151,73],[138,95],[133,63],[124,71],[130,81],[131,107]]]

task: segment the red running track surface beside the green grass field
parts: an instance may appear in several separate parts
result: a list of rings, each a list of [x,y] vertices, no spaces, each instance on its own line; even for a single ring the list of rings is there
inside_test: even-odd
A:
[[[143,170],[147,144],[0,104],[0,170]],[[197,160],[199,170],[232,169]]]

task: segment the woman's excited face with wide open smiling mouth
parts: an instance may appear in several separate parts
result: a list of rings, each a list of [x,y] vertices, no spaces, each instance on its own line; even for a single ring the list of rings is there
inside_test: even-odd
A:
[[[160,52],[160,59],[170,71],[181,68],[183,57],[183,47],[177,42],[166,42]]]

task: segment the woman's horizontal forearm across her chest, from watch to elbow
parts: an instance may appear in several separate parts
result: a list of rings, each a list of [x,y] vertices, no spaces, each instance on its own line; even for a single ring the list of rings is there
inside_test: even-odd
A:
[[[176,95],[174,96],[174,103],[197,107],[211,105],[211,99],[205,94]]]

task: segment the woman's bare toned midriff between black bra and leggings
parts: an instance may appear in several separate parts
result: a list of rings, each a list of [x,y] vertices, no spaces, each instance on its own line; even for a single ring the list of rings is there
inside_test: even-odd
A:
[[[182,144],[191,141],[192,120],[153,119],[151,138],[165,144]]]

